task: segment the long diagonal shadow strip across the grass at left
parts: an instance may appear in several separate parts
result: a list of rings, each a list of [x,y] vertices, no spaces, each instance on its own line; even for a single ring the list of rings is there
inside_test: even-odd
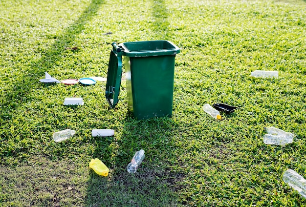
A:
[[[39,77],[43,78],[45,71],[52,72],[52,68],[54,68],[56,62],[63,60],[63,56],[67,52],[67,47],[73,47],[71,44],[75,38],[84,30],[86,23],[96,15],[96,12],[103,3],[104,0],[92,0],[75,22],[68,26],[62,33],[49,37],[55,39],[55,43],[47,50],[37,51],[41,55],[40,59],[25,62],[22,68],[17,68],[18,70],[24,70],[24,72],[15,80],[14,87],[8,88],[4,94],[1,94],[1,104],[3,105],[1,108],[1,123],[11,122],[14,114],[23,113],[21,110],[22,106],[37,101],[33,91],[39,90],[41,87],[54,86],[54,83],[39,83]],[[73,52],[78,51],[75,50]],[[42,108],[37,108],[36,110],[39,111]],[[41,113],[43,114],[44,112],[42,111]],[[30,131],[24,130],[23,134],[19,136],[25,138],[32,137],[31,133],[39,132],[37,130],[33,128]],[[18,147],[15,145],[12,147],[9,144],[10,136],[15,137],[16,135],[13,133],[0,133],[0,139],[3,141],[2,147],[7,152],[6,154],[1,154],[0,159],[5,160],[7,157],[17,157],[20,154],[27,154],[31,150],[31,147],[34,147],[30,145],[26,147],[22,145]],[[18,160],[15,162],[18,162]]]

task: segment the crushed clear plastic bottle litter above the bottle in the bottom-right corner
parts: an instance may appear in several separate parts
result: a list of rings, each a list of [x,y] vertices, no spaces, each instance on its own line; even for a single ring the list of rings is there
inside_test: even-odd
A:
[[[293,142],[294,134],[285,132],[275,127],[266,127],[263,143],[267,145],[286,145]]]

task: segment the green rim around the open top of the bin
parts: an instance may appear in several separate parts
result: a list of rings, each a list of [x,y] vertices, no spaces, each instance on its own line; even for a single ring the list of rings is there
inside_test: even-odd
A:
[[[128,57],[149,57],[162,55],[176,55],[179,48],[171,41],[131,41],[119,44],[122,55]]]

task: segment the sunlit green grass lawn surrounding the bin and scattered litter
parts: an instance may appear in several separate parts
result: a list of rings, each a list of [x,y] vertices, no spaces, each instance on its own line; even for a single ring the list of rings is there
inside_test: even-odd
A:
[[[306,178],[305,0],[1,0],[0,10],[0,207],[306,206],[282,179],[289,168]],[[115,109],[105,82],[39,82],[45,71],[107,77],[111,42],[149,40],[180,48],[172,118],[134,119],[124,78]],[[64,106],[73,96],[85,104]],[[206,103],[239,108],[217,121]],[[294,142],[265,145],[265,126]],[[66,128],[75,136],[54,142]],[[115,135],[92,137],[97,128]],[[94,158],[108,177],[89,169]]]

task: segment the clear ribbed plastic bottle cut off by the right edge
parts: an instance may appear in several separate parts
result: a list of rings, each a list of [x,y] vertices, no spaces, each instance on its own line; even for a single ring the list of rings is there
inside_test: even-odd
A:
[[[306,198],[306,180],[296,171],[286,170],[283,174],[283,181]]]

